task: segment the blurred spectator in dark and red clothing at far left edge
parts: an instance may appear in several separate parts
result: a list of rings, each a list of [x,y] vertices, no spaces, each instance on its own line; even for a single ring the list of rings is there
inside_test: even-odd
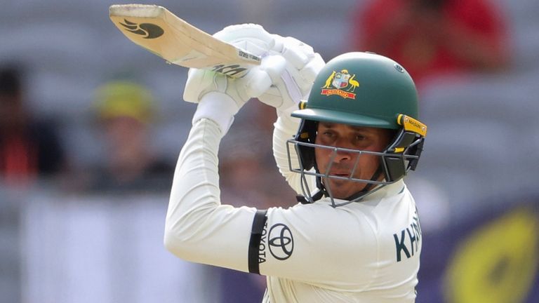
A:
[[[30,114],[22,82],[20,67],[0,67],[0,179],[10,184],[67,169],[55,124]]]

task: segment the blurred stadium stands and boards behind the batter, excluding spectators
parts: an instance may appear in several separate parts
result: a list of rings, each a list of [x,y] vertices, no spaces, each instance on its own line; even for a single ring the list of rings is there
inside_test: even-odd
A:
[[[157,4],[206,32],[256,22],[328,60],[352,50],[351,12],[366,2]],[[420,96],[430,133],[408,179],[422,216],[419,303],[539,302],[539,2],[494,2],[510,29],[510,69],[438,79]],[[159,119],[151,144],[171,163],[194,112],[181,97],[187,70],[135,46],[109,21],[108,6],[119,3],[128,1],[1,3],[0,63],[26,67],[25,100],[34,115],[56,121],[74,168],[67,178],[0,184],[1,302],[225,302],[226,274],[164,251],[166,190],[107,194],[72,186],[77,171],[103,157],[92,114],[100,84],[122,74],[152,90]],[[241,113],[243,125],[255,123],[248,116],[255,110]],[[267,175],[255,179],[266,189],[276,184]],[[260,292],[260,281],[232,277],[238,283],[229,291]]]

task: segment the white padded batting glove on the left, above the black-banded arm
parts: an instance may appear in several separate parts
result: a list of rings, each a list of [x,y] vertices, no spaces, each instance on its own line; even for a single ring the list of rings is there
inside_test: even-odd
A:
[[[270,55],[275,39],[260,25],[232,25],[213,36],[262,57],[259,66],[239,79],[204,69],[189,69],[183,98],[187,102],[199,103],[192,122],[212,119],[226,133],[234,121],[234,114],[251,97],[265,93],[274,79],[279,79],[286,61],[279,55]],[[212,93],[211,97],[204,97],[208,93]]]

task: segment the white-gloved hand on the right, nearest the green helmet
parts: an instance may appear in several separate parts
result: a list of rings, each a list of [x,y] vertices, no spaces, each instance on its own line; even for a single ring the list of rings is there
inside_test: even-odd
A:
[[[258,100],[275,107],[279,116],[288,115],[298,108],[300,100],[307,98],[312,83],[320,69],[326,64],[311,46],[292,37],[274,34],[275,46],[270,54],[286,60],[286,67],[279,76],[272,76],[272,87],[260,95]]]

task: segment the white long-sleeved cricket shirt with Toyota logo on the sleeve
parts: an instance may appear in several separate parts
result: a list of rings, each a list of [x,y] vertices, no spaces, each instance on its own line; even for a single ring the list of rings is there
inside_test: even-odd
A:
[[[283,142],[296,129],[297,121],[279,118],[274,156],[298,191],[299,174],[284,168]],[[267,276],[263,302],[414,302],[421,229],[402,180],[338,208],[328,198],[266,213],[234,208],[220,203],[221,137],[208,119],[189,133],[166,216],[168,250],[191,262]]]

